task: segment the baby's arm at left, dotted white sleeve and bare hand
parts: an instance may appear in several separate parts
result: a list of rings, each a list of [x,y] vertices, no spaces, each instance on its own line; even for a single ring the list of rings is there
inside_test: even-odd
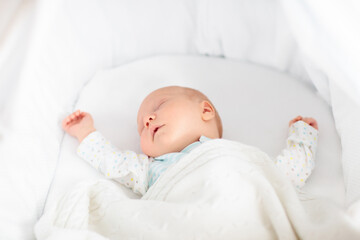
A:
[[[132,151],[120,151],[96,131],[89,113],[79,110],[63,121],[64,130],[78,138],[77,154],[105,177],[114,179],[135,193],[145,194],[148,188],[149,158]]]

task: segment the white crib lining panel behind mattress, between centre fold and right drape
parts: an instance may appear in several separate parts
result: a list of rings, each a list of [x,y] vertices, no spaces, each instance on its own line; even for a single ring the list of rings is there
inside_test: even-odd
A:
[[[253,62],[311,82],[279,1],[199,3],[196,43],[201,54]]]

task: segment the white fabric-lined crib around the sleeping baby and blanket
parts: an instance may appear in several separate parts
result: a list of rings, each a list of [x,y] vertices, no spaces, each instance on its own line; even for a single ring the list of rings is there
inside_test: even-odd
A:
[[[304,202],[321,199],[359,226],[359,11],[350,0],[0,3],[0,238],[47,236],[34,226],[66,191],[104,180],[76,155],[65,116],[89,111],[113,143],[139,152],[136,106],[167,85],[203,91],[224,138],[269,156],[285,146],[291,118],[316,118]],[[62,234],[51,237],[79,239]]]

